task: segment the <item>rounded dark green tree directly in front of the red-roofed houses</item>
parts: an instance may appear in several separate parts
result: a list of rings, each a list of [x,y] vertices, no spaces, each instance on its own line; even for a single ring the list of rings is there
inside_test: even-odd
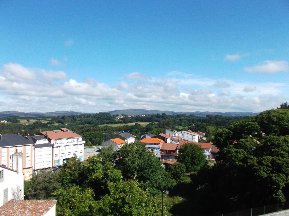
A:
[[[204,150],[200,145],[194,143],[185,143],[181,145],[178,161],[186,166],[187,172],[199,171],[201,167],[208,163],[204,155]]]

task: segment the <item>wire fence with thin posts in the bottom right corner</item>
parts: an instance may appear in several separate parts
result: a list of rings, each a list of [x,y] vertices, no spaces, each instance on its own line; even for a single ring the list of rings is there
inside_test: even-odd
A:
[[[221,214],[218,216],[258,216],[258,215],[265,215],[277,211],[283,211],[289,209],[289,202],[282,202],[277,203],[269,206],[262,206],[258,208],[251,208],[242,211],[236,211],[227,214]]]

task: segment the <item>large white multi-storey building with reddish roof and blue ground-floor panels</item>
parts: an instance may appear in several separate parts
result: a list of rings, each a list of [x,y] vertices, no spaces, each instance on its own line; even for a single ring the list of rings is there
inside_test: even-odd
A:
[[[85,141],[82,136],[67,128],[54,131],[40,131],[36,135],[43,135],[53,144],[53,168],[63,166],[69,158],[76,155],[83,161],[83,147]]]

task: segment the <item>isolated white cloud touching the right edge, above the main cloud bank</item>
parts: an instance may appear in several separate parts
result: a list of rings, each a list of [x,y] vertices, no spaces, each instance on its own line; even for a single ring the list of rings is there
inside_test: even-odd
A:
[[[262,64],[254,65],[253,67],[244,67],[247,72],[260,72],[260,73],[278,73],[287,72],[289,69],[289,64],[287,61],[263,61]]]

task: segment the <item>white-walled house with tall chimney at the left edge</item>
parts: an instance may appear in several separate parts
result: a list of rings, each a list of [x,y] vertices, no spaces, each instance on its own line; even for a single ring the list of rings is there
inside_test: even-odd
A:
[[[12,199],[23,199],[23,153],[12,154],[12,168],[0,165],[0,206],[3,206]],[[1,210],[0,210],[1,212]]]

